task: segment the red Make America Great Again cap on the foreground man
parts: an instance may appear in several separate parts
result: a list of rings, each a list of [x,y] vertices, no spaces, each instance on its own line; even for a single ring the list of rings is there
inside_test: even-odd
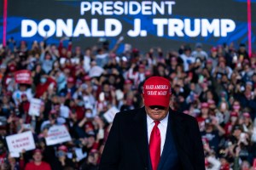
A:
[[[164,77],[150,77],[143,85],[144,105],[169,107],[172,95],[171,83]]]

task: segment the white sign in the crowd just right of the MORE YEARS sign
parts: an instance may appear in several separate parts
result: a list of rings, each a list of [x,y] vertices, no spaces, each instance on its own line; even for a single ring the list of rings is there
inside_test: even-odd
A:
[[[50,127],[48,131],[48,136],[45,138],[45,140],[46,145],[53,145],[71,141],[71,137],[67,131],[67,127],[61,125]]]

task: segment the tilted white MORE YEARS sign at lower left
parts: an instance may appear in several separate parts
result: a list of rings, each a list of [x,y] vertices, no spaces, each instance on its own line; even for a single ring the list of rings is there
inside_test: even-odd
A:
[[[31,131],[6,137],[9,152],[20,153],[22,150],[34,150],[35,141]]]

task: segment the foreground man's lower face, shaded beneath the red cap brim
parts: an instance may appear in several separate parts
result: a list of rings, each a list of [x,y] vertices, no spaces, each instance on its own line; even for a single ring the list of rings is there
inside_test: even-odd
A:
[[[154,106],[145,105],[145,110],[151,119],[153,119],[154,121],[160,121],[167,116],[169,112],[169,107],[163,107],[160,105],[154,105]]]

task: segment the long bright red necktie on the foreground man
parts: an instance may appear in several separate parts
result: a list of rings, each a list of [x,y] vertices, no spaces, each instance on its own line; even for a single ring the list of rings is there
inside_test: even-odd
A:
[[[157,170],[157,167],[160,161],[161,136],[160,136],[160,130],[157,127],[159,123],[160,123],[159,121],[154,121],[154,127],[152,129],[150,140],[149,140],[149,152],[150,152],[152,170]]]

